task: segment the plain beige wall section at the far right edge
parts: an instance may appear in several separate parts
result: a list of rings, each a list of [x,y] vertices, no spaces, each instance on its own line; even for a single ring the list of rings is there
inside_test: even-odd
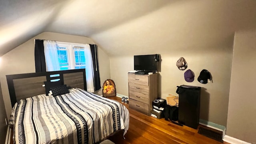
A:
[[[226,135],[256,143],[256,29],[238,31],[230,80]]]

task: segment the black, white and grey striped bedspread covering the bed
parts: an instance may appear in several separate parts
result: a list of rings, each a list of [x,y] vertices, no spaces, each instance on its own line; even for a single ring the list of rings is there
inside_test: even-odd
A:
[[[93,144],[129,128],[129,112],[115,100],[79,88],[69,94],[41,94],[12,110],[16,144]]]

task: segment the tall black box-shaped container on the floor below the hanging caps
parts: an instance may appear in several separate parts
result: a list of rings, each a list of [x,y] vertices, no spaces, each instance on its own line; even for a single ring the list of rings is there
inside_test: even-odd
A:
[[[179,94],[178,122],[190,128],[197,129],[200,115],[201,87],[177,86]]]

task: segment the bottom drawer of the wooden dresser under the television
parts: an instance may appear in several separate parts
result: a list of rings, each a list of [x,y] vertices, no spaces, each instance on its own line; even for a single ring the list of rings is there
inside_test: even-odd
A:
[[[142,114],[149,115],[148,104],[129,99],[129,108],[132,108]]]

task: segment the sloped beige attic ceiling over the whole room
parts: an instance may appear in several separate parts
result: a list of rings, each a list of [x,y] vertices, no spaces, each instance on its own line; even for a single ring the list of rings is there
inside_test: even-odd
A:
[[[256,0],[1,0],[0,56],[42,32],[86,36],[123,56],[210,50],[255,26]]]

